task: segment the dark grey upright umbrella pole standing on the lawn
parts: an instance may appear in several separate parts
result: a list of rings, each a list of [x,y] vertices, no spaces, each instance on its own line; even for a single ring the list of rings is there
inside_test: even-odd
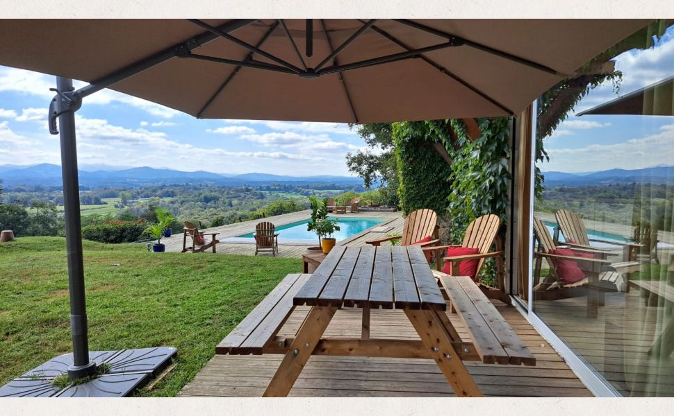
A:
[[[68,367],[68,378],[79,379],[96,371],[96,363],[89,359],[87,313],[84,293],[84,261],[82,257],[82,230],[80,220],[79,180],[77,175],[77,146],[75,140],[74,105],[63,94],[73,91],[72,79],[56,77],[54,98],[59,109],[58,127],[63,172],[63,205],[65,207],[65,244],[68,254],[68,288],[70,293],[70,332],[72,333],[73,365]]]

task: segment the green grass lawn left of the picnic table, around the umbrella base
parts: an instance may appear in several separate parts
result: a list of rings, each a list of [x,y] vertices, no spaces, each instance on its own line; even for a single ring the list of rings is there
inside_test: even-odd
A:
[[[90,349],[170,345],[177,365],[142,396],[174,396],[299,259],[151,253],[84,242]],[[113,266],[119,263],[120,266]],[[65,239],[0,244],[0,385],[72,351]]]

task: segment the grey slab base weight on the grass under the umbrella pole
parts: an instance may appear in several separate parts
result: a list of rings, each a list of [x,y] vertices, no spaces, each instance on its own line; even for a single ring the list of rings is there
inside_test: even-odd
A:
[[[72,354],[64,354],[1,386],[0,397],[126,397],[161,373],[175,355],[174,347],[92,351],[90,361],[106,365],[106,374],[55,385],[54,379],[73,365]]]

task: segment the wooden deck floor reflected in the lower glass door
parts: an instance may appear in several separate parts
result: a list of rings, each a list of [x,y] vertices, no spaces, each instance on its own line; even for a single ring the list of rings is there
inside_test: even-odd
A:
[[[586,318],[584,297],[536,301],[534,311],[614,385],[624,397],[669,396],[674,391],[674,358],[648,350],[673,316],[647,293],[607,293],[597,318]],[[652,297],[652,296],[651,296]]]

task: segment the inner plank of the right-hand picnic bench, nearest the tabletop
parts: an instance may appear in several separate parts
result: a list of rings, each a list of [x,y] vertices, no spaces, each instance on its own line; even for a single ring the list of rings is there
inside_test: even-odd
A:
[[[470,332],[470,338],[475,345],[477,354],[482,357],[485,364],[508,364],[510,356],[505,352],[498,338],[489,329],[489,325],[482,317],[475,304],[473,304],[463,290],[461,284],[454,276],[447,276],[441,279],[447,295],[454,307],[459,312],[459,317]],[[475,283],[473,283],[475,285]]]

